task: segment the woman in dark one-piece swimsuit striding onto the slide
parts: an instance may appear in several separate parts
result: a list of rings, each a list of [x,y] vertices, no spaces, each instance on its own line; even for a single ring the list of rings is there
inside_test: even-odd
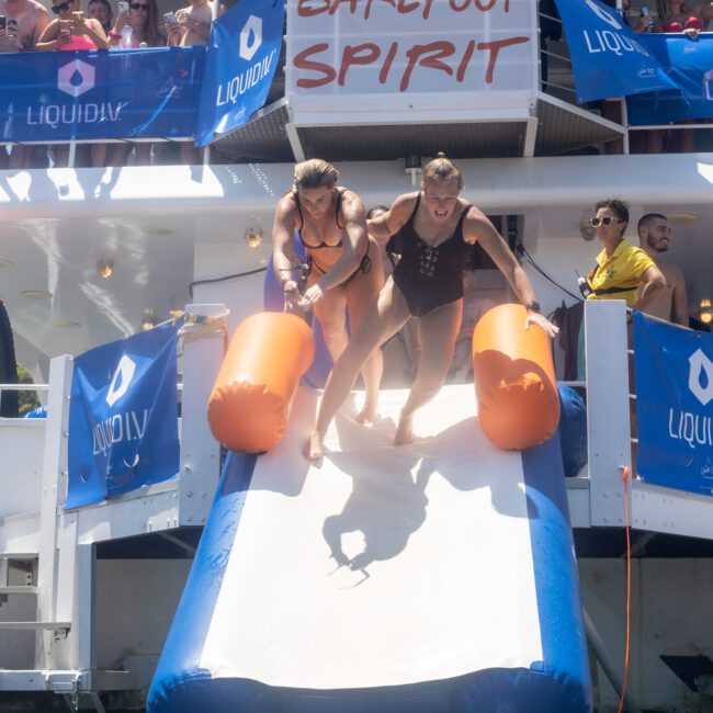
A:
[[[401,259],[362,327],[332,369],[305,455],[322,455],[327,428],[349,395],[364,360],[410,317],[420,320],[418,372],[394,438],[414,440],[414,412],[431,400],[448,374],[463,310],[463,268],[469,246],[480,242],[528,307],[524,328],[539,325],[553,337],[557,328],[540,314],[528,275],[487,217],[459,197],[461,170],[442,155],[423,172],[421,192],[400,195],[391,210],[369,222],[376,238],[394,235]]]

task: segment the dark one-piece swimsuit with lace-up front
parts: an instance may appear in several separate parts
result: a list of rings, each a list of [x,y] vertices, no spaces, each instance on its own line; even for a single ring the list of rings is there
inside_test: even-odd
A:
[[[463,269],[473,249],[463,239],[463,220],[471,204],[463,208],[453,235],[434,248],[414,229],[420,202],[419,193],[411,217],[394,236],[394,244],[401,253],[394,270],[394,282],[414,317],[423,317],[463,296]]]

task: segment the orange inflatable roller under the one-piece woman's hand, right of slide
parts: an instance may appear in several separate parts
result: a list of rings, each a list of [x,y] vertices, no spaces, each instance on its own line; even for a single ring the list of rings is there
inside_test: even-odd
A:
[[[473,331],[473,373],[483,432],[503,450],[546,441],[559,422],[550,337],[523,328],[522,305],[487,312]]]

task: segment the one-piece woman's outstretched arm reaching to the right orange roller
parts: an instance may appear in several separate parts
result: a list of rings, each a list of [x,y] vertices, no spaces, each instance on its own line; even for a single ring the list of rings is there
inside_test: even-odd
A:
[[[483,249],[490,256],[493,262],[510,283],[520,302],[525,307],[532,305],[532,307],[528,308],[524,328],[528,329],[530,325],[539,325],[550,337],[554,337],[559,330],[540,314],[539,306],[534,307],[536,305],[535,293],[525,271],[517,261],[512,250],[508,248],[502,236],[495,229],[493,223],[475,206],[468,211],[463,226],[463,235],[467,242],[474,244],[477,240],[483,246]]]

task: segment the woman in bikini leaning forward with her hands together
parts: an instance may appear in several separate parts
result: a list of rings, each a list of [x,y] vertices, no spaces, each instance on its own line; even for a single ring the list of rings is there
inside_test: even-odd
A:
[[[344,310],[354,333],[384,285],[378,246],[366,235],[364,204],[338,180],[337,169],[327,161],[297,163],[293,190],[278,203],[272,228],[273,269],[285,304],[314,308],[335,362],[349,343]],[[305,246],[309,271],[302,296],[293,275],[295,230]],[[366,389],[361,422],[374,418],[382,377],[381,350],[366,356],[360,364]]]

